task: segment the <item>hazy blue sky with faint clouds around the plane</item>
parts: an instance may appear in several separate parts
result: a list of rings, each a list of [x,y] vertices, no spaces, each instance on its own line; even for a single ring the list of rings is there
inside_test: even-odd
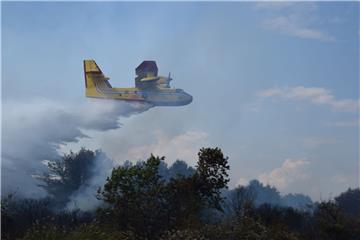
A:
[[[219,146],[231,187],[257,178],[327,199],[359,184],[359,34],[356,2],[2,2],[2,101],[80,105],[83,59],[119,87],[156,60],[190,105],[86,130],[64,150],[194,164],[200,147]]]

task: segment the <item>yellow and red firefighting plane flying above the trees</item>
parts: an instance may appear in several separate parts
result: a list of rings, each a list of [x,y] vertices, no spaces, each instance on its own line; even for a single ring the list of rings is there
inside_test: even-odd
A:
[[[190,94],[170,88],[170,73],[168,77],[158,76],[155,61],[143,61],[135,72],[134,88],[113,88],[94,60],[84,60],[86,97],[141,101],[154,106],[183,106],[192,102]]]

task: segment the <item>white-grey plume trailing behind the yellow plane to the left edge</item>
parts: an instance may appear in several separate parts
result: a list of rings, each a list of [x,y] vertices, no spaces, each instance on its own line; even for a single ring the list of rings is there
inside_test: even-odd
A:
[[[46,99],[2,105],[1,192],[22,197],[43,197],[32,175],[46,171],[43,160],[60,157],[59,145],[88,137],[82,130],[106,131],[121,126],[119,117],[141,113],[152,106],[111,100],[89,100],[64,105]],[[99,171],[104,173],[102,168]],[[93,179],[92,181],[96,181]],[[82,189],[83,190],[83,189]]]

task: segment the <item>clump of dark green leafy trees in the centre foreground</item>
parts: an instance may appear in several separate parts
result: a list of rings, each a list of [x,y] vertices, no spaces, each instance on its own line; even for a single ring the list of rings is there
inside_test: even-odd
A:
[[[201,149],[193,174],[167,181],[159,171],[163,160],[151,155],[145,162],[114,168],[99,190],[99,198],[110,205],[100,215],[105,220],[111,216],[120,230],[154,239],[171,227],[196,226],[204,209],[221,210],[220,190],[227,187],[229,166],[219,148]]]

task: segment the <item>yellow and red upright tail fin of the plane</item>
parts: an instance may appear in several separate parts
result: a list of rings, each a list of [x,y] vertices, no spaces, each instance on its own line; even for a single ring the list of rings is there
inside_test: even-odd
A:
[[[105,77],[94,60],[84,60],[85,90],[86,95],[92,95],[95,90],[95,81],[104,81],[109,87],[109,78]]]

